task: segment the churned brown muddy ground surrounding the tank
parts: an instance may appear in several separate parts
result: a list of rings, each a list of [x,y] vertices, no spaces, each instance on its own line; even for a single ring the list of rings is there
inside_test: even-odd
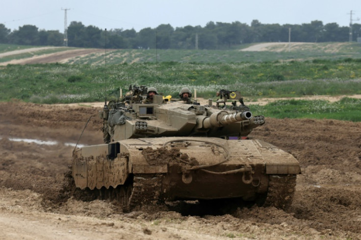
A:
[[[71,144],[90,116],[79,144],[102,144],[98,110],[0,103],[0,239],[361,239],[360,122],[266,118],[251,134],[301,164],[289,212],[250,206],[219,215],[192,208],[124,213],[62,192]]]

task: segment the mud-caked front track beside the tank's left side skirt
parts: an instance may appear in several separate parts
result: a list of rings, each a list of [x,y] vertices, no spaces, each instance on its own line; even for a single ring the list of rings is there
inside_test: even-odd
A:
[[[129,210],[142,205],[156,205],[160,200],[161,182],[161,174],[134,175],[133,190],[128,201]]]

